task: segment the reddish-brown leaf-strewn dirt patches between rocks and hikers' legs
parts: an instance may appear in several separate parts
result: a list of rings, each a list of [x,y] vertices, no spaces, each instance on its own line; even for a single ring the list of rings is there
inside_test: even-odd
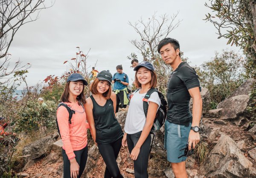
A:
[[[236,143],[238,141],[244,140],[248,150],[252,149],[256,146],[256,141],[253,141],[252,137],[250,136],[249,132],[244,131],[241,127],[233,125],[231,123],[227,123],[227,125],[217,124],[217,123],[205,123],[210,127],[220,127],[221,132],[229,135]],[[210,144],[211,145],[211,144]],[[253,167],[256,167],[256,161],[254,161],[248,155],[248,150],[243,151],[244,156],[247,157],[252,163]],[[121,148],[120,150],[120,171],[122,175],[125,175],[126,178],[134,178],[134,174],[126,172],[127,168],[133,169],[133,161],[129,158],[128,148]],[[58,175],[57,169],[61,163],[55,163],[43,166],[41,164],[42,161],[39,161],[34,166],[30,167],[27,171],[23,173],[28,173],[29,176],[26,178],[60,178],[61,176]],[[97,167],[94,171],[93,178],[103,178],[105,171],[105,164],[101,156],[97,161]]]

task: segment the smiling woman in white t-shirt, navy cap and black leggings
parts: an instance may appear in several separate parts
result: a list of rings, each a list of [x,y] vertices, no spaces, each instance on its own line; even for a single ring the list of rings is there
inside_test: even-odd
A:
[[[149,89],[157,86],[154,66],[149,62],[140,63],[134,68],[136,87],[140,88],[131,98],[125,120],[125,135],[122,146],[128,146],[131,159],[134,160],[135,178],[148,178],[148,157],[151,143],[150,130],[154,123],[161,100],[157,92],[148,99],[147,118],[143,110],[143,98]]]

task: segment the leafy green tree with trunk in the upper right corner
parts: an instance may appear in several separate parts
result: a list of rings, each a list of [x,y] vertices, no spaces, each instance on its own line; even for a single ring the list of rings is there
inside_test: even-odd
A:
[[[207,20],[218,30],[219,37],[227,39],[227,44],[235,44],[244,49],[247,56],[246,75],[256,78],[256,4],[254,0],[209,0],[205,6],[212,10],[206,14]]]

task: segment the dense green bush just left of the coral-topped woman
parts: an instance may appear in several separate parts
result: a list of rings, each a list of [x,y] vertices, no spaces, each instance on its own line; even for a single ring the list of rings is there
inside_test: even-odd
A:
[[[38,129],[44,129],[44,127],[55,129],[56,108],[57,106],[53,101],[38,103],[37,100],[29,100],[20,119],[16,121],[15,130],[29,134]],[[46,131],[44,130],[44,132]]]

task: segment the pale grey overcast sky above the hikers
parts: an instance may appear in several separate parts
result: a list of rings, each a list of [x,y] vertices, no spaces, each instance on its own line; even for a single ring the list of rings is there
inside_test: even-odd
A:
[[[176,14],[180,26],[169,34],[180,42],[180,50],[192,65],[210,60],[215,51],[239,48],[227,46],[227,40],[217,39],[215,27],[205,20],[210,9],[205,0],[56,0],[54,6],[40,12],[38,20],[22,26],[15,34],[9,53],[12,61],[30,63],[27,81],[29,86],[44,80],[47,75],[61,75],[66,71],[65,60],[76,57],[76,46],[83,52],[90,49],[88,65],[113,74],[122,64],[130,80],[134,72],[127,56],[138,50],[129,40],[139,39],[128,25],[142,17]],[[23,85],[24,86],[24,85]],[[21,89],[21,88],[20,88]]]

